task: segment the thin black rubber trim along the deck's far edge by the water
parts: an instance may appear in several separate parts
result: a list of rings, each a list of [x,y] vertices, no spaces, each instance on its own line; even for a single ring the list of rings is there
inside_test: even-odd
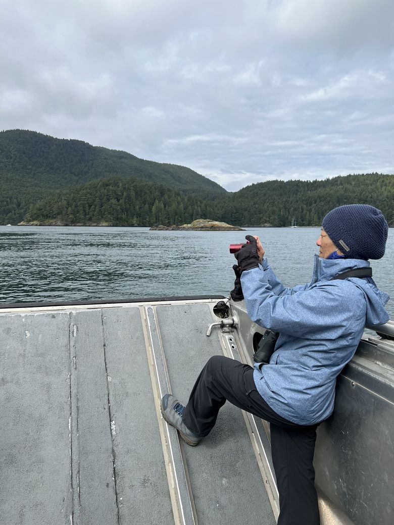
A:
[[[220,295],[207,296],[181,296],[181,297],[141,297],[136,299],[92,299],[90,301],[55,301],[55,302],[14,302],[0,303],[0,310],[3,308],[40,308],[47,306],[80,306],[84,304],[117,304],[124,302],[160,302],[160,301],[197,301],[199,299],[228,299]]]

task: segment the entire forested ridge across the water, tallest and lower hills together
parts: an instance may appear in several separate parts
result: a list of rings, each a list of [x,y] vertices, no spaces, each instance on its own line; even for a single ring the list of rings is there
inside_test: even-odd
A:
[[[317,226],[330,209],[360,203],[381,209],[394,225],[393,174],[274,180],[226,192],[184,166],[21,130],[0,132],[0,190],[0,224],[26,217],[46,224],[171,226],[211,217],[239,226],[289,226],[292,219]]]

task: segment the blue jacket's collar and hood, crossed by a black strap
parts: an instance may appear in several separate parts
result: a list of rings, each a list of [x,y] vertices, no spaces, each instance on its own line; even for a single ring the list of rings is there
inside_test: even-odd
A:
[[[344,271],[369,267],[369,262],[362,259],[322,259],[315,255],[312,283],[329,281]],[[385,309],[385,304],[390,297],[377,288],[374,279],[371,277],[349,277],[346,280],[352,282],[364,293],[367,303],[366,325],[374,327],[378,324],[387,323],[390,316]]]

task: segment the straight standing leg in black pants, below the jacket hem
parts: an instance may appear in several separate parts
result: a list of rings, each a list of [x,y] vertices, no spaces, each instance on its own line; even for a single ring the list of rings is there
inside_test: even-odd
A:
[[[271,423],[271,453],[279,492],[278,525],[319,525],[315,489],[316,427]]]

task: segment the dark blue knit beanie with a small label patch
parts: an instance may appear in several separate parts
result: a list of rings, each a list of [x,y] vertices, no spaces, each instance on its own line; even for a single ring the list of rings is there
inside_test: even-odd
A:
[[[347,259],[380,259],[385,254],[388,226],[374,206],[339,206],[327,213],[322,226]]]

